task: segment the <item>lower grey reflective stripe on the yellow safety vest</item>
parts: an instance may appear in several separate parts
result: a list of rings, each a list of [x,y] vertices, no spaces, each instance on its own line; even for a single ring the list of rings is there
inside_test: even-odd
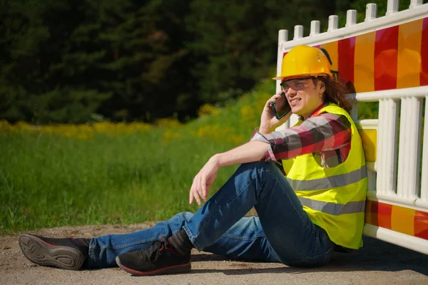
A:
[[[340,214],[352,214],[365,211],[365,201],[347,202],[346,204],[335,204],[332,202],[317,201],[299,197],[302,205],[326,214],[338,216]]]

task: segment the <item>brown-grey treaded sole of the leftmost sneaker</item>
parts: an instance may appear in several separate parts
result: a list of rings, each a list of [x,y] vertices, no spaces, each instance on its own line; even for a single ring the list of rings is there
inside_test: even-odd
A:
[[[19,247],[27,259],[41,266],[79,270],[86,259],[78,249],[47,244],[31,234],[19,237]]]

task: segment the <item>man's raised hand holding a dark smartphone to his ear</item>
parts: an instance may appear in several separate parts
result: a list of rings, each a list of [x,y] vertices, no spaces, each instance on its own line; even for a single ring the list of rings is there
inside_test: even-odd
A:
[[[260,133],[271,133],[279,125],[285,123],[291,116],[291,107],[285,93],[281,91],[266,101],[260,119]]]

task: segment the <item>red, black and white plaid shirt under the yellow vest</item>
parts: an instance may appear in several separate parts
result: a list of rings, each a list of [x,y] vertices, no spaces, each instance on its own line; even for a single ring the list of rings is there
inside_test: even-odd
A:
[[[344,162],[351,148],[351,123],[344,115],[318,114],[325,104],[299,126],[262,135],[257,130],[251,140],[270,143],[260,161],[287,160],[313,153],[322,167],[335,167]]]

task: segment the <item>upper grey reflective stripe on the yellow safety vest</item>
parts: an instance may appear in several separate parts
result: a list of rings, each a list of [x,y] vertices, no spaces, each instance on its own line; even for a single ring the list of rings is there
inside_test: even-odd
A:
[[[311,191],[311,190],[323,190],[329,188],[337,188],[350,185],[355,182],[359,182],[363,178],[367,177],[366,166],[363,165],[360,169],[354,170],[349,173],[320,178],[312,180],[292,180],[287,177],[288,183],[290,183],[292,189],[298,189],[299,191]]]

